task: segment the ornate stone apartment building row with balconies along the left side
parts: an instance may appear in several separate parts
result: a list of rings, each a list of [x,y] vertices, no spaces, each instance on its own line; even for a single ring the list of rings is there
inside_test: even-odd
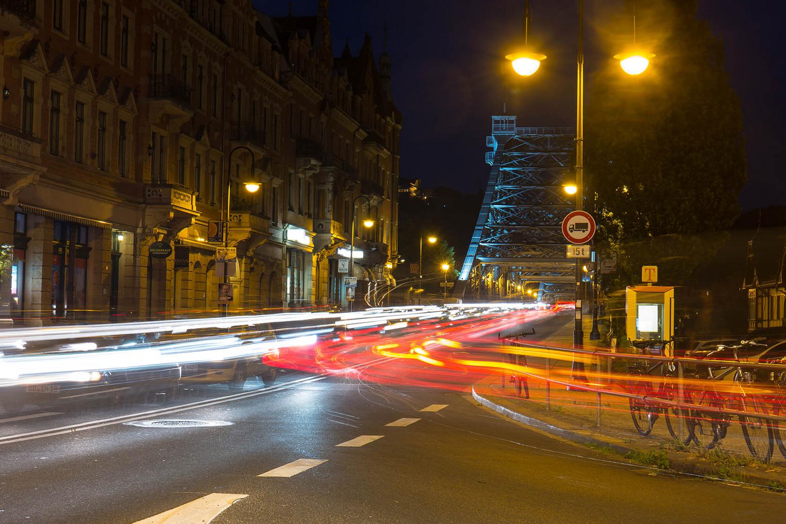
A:
[[[230,310],[345,306],[352,221],[359,291],[391,283],[390,57],[368,37],[333,57],[316,7],[0,0],[0,314],[215,311],[225,245]],[[170,256],[150,256],[159,242]]]

